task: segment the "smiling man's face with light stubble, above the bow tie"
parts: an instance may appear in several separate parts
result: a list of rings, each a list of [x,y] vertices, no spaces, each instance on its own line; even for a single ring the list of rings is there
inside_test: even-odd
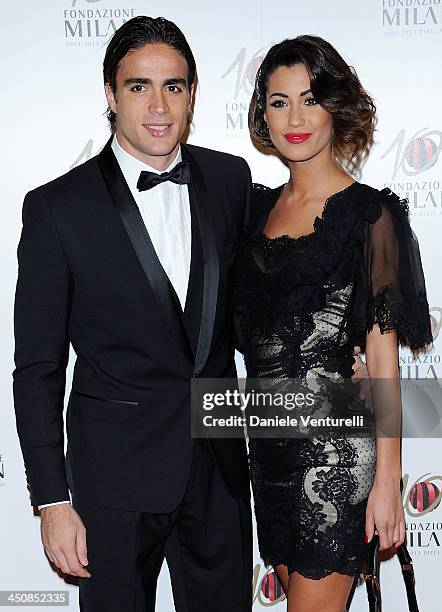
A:
[[[157,170],[174,160],[187,128],[193,85],[182,55],[164,44],[129,51],[117,71],[116,91],[106,83],[109,108],[116,114],[118,143]]]

